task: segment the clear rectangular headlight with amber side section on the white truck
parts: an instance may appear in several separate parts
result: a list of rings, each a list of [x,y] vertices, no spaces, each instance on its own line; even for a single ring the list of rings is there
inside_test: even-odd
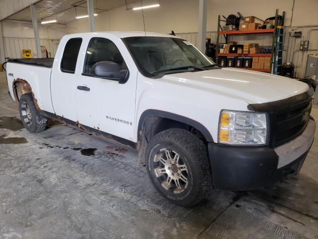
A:
[[[266,145],[266,114],[222,110],[218,142],[234,145]]]

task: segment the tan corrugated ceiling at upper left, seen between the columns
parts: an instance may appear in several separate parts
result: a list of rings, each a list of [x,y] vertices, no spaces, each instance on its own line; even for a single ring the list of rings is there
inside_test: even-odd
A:
[[[127,0],[128,5],[137,2],[140,2],[140,0]],[[101,13],[125,5],[125,0],[94,0],[95,13]],[[38,12],[38,21],[42,19],[57,19],[57,23],[67,24],[76,20],[76,16],[87,14],[86,0],[41,0],[35,6]],[[30,7],[6,19],[32,21]]]

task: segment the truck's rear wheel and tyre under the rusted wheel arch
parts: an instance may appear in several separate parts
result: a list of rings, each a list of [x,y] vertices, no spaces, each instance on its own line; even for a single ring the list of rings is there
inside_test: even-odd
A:
[[[32,93],[20,97],[19,113],[23,126],[31,133],[41,132],[46,128],[48,119],[36,109]]]

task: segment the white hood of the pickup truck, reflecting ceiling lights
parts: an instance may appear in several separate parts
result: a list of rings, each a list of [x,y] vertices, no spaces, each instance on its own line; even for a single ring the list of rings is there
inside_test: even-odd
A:
[[[159,80],[221,94],[248,104],[278,101],[309,90],[307,84],[297,80],[236,68],[164,75]]]

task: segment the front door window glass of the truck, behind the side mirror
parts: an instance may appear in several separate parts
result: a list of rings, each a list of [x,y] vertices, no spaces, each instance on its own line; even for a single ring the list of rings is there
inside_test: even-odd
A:
[[[127,70],[127,65],[116,45],[106,38],[91,38],[85,56],[83,75],[92,76],[93,65],[100,61],[112,61],[120,66],[121,70]]]

